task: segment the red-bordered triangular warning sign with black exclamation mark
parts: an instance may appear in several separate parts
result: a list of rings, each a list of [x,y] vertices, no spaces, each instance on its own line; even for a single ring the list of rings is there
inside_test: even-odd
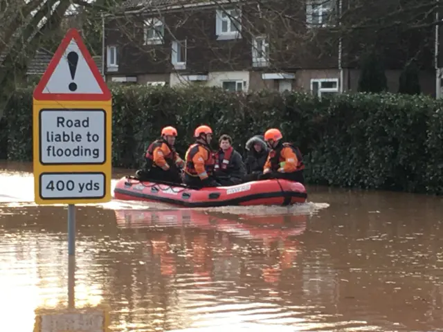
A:
[[[111,100],[105,80],[76,29],[69,29],[34,90],[36,100]]]

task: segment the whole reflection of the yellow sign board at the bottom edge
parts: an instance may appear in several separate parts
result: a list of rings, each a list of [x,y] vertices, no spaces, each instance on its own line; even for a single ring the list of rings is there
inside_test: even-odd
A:
[[[39,309],[35,332],[108,332],[109,306],[82,309]]]

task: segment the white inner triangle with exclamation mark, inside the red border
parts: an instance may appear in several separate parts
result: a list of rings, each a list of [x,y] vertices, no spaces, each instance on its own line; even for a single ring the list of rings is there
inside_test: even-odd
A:
[[[71,39],[64,50],[62,59],[55,67],[48,84],[44,86],[43,93],[103,93],[74,39]]]

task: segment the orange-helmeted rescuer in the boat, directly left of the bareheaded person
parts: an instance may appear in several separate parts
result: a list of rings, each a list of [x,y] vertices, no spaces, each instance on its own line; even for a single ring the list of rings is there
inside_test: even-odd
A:
[[[210,149],[213,129],[199,126],[194,131],[195,143],[186,151],[183,183],[192,187],[218,187],[213,176],[215,158]]]

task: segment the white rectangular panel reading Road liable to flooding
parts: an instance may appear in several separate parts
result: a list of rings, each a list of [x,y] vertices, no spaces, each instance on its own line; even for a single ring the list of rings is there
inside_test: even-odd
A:
[[[42,109],[39,117],[42,165],[105,163],[104,110]]]

